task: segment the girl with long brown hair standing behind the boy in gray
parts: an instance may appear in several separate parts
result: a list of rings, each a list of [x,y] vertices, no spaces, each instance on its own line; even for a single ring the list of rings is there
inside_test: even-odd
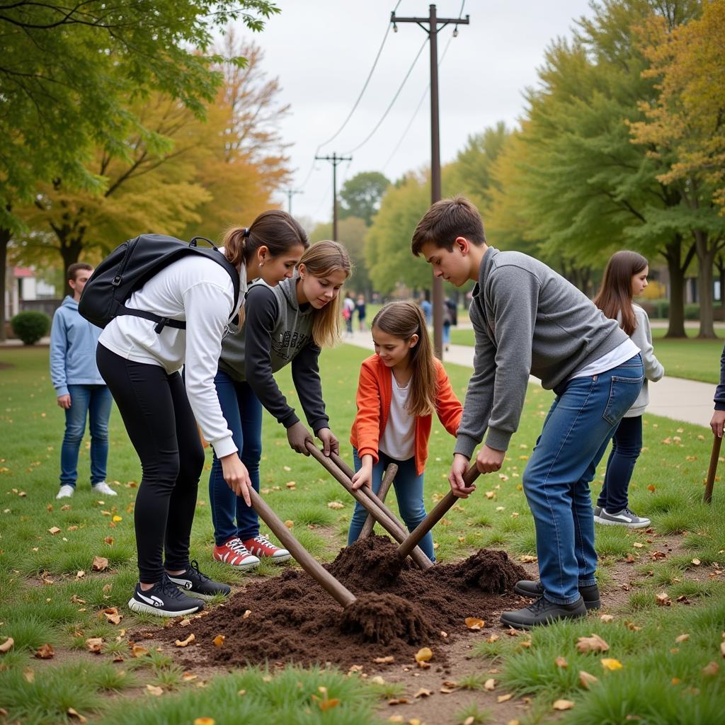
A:
[[[627,492],[634,465],[642,450],[642,413],[650,402],[647,381],[654,383],[665,374],[652,347],[647,312],[633,302],[633,297],[645,291],[649,273],[650,267],[642,254],[616,252],[607,264],[601,289],[594,299],[595,305],[608,318],[617,320],[639,347],[645,368],[645,381],[639,397],[624,414],[614,432],[604,485],[594,510],[597,523],[626,526],[629,529],[642,529],[650,525],[650,519],[638,516],[629,508]]]

